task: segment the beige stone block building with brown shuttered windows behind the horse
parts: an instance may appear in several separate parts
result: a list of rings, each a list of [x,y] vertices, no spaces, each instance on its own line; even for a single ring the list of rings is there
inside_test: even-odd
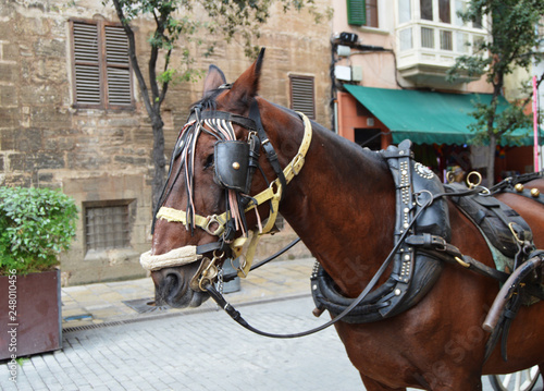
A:
[[[326,0],[317,1],[325,9]],[[135,23],[137,56],[147,63],[151,21]],[[267,47],[261,95],[307,110],[327,124],[330,23],[273,8],[258,44]],[[219,38],[220,39],[220,38]],[[250,63],[234,40],[215,63],[230,82]],[[172,63],[180,63],[175,53]],[[168,158],[202,83],[173,85],[163,105]],[[127,61],[126,36],[101,0],[0,4],[0,184],[61,188],[81,218],[61,258],[63,284],[145,274],[150,247],[152,135]]]

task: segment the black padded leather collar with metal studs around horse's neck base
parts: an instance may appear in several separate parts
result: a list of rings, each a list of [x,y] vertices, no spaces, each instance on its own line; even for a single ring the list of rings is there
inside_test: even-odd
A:
[[[398,241],[405,224],[408,224],[420,206],[416,193],[421,197],[444,192],[438,178],[420,163],[413,162],[410,151],[411,143],[405,140],[397,147],[391,146],[382,155],[387,159],[396,185],[396,227],[395,243]],[[425,198],[426,199],[426,198]],[[423,198],[421,198],[423,200]],[[415,224],[413,234],[440,235],[449,241],[450,227],[447,203],[435,199]],[[390,318],[416,305],[429,292],[438,279],[443,262],[425,254],[420,254],[412,246],[403,244],[396,254],[390,278],[356,306],[344,321],[364,323]],[[331,277],[317,267],[312,273],[312,295],[318,308],[325,308],[334,316],[342,313],[353,298],[339,293]]]

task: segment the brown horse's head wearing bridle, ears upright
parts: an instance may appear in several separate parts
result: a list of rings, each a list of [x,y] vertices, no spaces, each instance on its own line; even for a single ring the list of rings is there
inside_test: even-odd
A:
[[[199,306],[225,259],[240,255],[248,233],[273,228],[286,185],[281,167],[296,149],[277,148],[271,127],[302,127],[302,121],[257,97],[263,53],[232,85],[211,65],[202,99],[180,133],[153,216],[152,247],[140,259],[151,270],[156,305]],[[304,163],[298,160],[293,170]],[[243,262],[240,272],[247,269]]]

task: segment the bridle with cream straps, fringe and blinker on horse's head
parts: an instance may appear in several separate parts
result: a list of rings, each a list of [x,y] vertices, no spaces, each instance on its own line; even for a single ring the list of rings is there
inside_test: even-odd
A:
[[[205,291],[203,286],[208,282],[212,283],[218,274],[219,266],[215,262],[227,252],[233,259],[240,257],[238,276],[246,277],[251,267],[257,243],[260,236],[271,233],[274,229],[284,188],[302,169],[311,143],[312,129],[310,120],[301,112],[297,112],[297,114],[300,115],[304,122],[304,138],[295,158],[282,170],[277,161],[277,155],[262,126],[256,100],[250,106],[249,118],[224,111],[201,111],[200,107],[194,107],[187,123],[180,133],[172,154],[166,185],[158,203],[158,210],[153,216],[153,229],[156,220],[163,219],[170,222],[181,222],[191,232],[195,228],[199,228],[211,235],[218,236],[219,240],[200,246],[187,245],[174,248],[162,255],[151,255],[149,251],[141,255],[141,266],[151,271],[166,267],[177,267],[197,261],[206,253],[213,253],[211,260],[209,258],[202,260],[199,271],[194,278],[194,280],[198,279],[198,283],[195,283],[195,281],[191,283],[193,289]],[[203,126],[205,124],[208,129]],[[249,131],[247,142],[236,140],[233,124]],[[218,138],[214,145],[214,182],[225,190],[227,198],[226,211],[221,215],[200,216],[196,213],[193,203],[193,164],[197,138],[201,133]],[[258,162],[261,147],[275,171],[276,179],[269,183],[267,190],[255,196],[249,196],[254,173],[257,169],[262,172]],[[182,163],[177,172],[173,173],[173,162],[180,157]],[[187,187],[187,209],[180,210],[163,206],[173,184],[182,172]],[[172,182],[170,186],[169,182]],[[270,201],[270,213],[264,227],[262,227],[257,207],[267,201]],[[252,236],[249,246],[246,254],[243,255],[243,247],[249,241],[245,213],[251,209],[256,211],[258,228],[251,230]],[[238,231],[242,231],[242,236],[235,239]]]

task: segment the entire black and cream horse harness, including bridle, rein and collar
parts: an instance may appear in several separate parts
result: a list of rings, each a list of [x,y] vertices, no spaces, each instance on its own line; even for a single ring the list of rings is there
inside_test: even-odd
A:
[[[397,315],[416,305],[433,286],[443,268],[442,261],[461,265],[467,269],[505,282],[503,290],[506,290],[507,296],[497,296],[490,311],[492,319],[486,319],[484,325],[486,330],[493,331],[487,343],[486,356],[489,356],[497,341],[497,335],[500,334],[503,329],[505,330],[503,332],[503,340],[505,341],[509,322],[519,308],[519,301],[515,301],[515,304],[510,305],[512,303],[510,298],[515,295],[521,296],[520,293],[527,291],[524,281],[528,276],[532,277],[533,280],[534,274],[536,274],[536,278],[542,278],[539,270],[542,269],[544,264],[544,252],[534,251],[534,246],[527,245],[520,262],[527,259],[529,261],[524,262],[511,276],[508,276],[504,271],[489,268],[478,260],[462,255],[457,247],[450,245],[448,243],[450,234],[448,209],[444,198],[456,196],[461,199],[465,196],[482,192],[482,188],[473,186],[474,188],[457,188],[449,193],[445,192],[437,178],[430,170],[413,161],[409,140],[403,142],[398,148],[390,147],[387,150],[381,151],[383,158],[387,160],[396,185],[395,245],[369,284],[357,298],[344,297],[335,291],[332,279],[326,276],[319,264],[314,268],[312,273],[312,295],[319,308],[318,313],[329,309],[333,315],[332,320],[300,333],[272,334],[248,325],[240,314],[218,292],[213,285],[219,272],[217,262],[223,258],[226,251],[230,252],[230,257],[239,257],[244,244],[249,240],[245,213],[255,209],[259,229],[252,230],[254,235],[248,251],[242,256],[244,260],[240,262],[237,272],[239,277],[246,277],[248,271],[252,269],[251,262],[257,242],[261,235],[273,230],[283,192],[293,178],[300,172],[305,163],[305,157],[311,143],[312,130],[308,118],[302,113],[298,113],[298,115],[305,125],[302,143],[294,159],[282,170],[277,161],[277,155],[262,127],[256,100],[250,106],[249,118],[215,110],[202,111],[201,107],[194,107],[186,125],[182,129],[176,148],[172,155],[169,180],[158,204],[158,210],[153,216],[153,228],[157,219],[165,219],[166,221],[183,223],[187,230],[202,229],[209,234],[218,236],[219,240],[200,246],[184,246],[158,256],[151,255],[150,252],[145,253],[140,258],[141,266],[148,270],[158,270],[165,267],[183,266],[203,258],[197,273],[190,281],[191,289],[207,291],[234,320],[250,331],[271,338],[296,338],[318,332],[339,320],[369,322]],[[233,124],[240,125],[249,131],[247,142],[235,139]],[[228,199],[226,211],[219,216],[205,217],[198,215],[191,198],[194,188],[191,167],[194,164],[196,142],[201,133],[208,133],[218,138],[214,145],[214,181],[225,190]],[[247,193],[254,173],[257,169],[261,170],[258,164],[261,148],[274,169],[276,179],[269,184],[267,190],[251,197]],[[182,164],[180,164],[177,172],[173,173],[173,162],[178,157],[183,158]],[[168,187],[168,183],[170,183],[171,179],[173,180],[172,183],[174,183],[182,170],[185,173],[184,178],[188,192],[187,209],[178,210],[164,207],[163,204],[172,191],[172,185]],[[490,193],[487,190],[484,191],[487,194]],[[534,197],[534,194],[532,196]],[[267,201],[270,203],[270,213],[264,227],[262,227],[257,207]],[[515,228],[510,229],[519,242],[521,231]],[[240,230],[243,235],[235,239],[236,232]],[[527,233],[523,233],[523,235],[527,235]],[[207,253],[213,253],[212,259],[205,257]],[[392,264],[392,272],[386,282],[374,290],[379,280]],[[530,291],[530,294],[540,298],[544,297],[544,292],[540,285],[537,289]],[[506,310],[505,307],[507,307]],[[499,327],[496,327],[497,322],[500,325]],[[505,346],[505,344],[503,345]],[[506,355],[506,351],[503,353]]]

